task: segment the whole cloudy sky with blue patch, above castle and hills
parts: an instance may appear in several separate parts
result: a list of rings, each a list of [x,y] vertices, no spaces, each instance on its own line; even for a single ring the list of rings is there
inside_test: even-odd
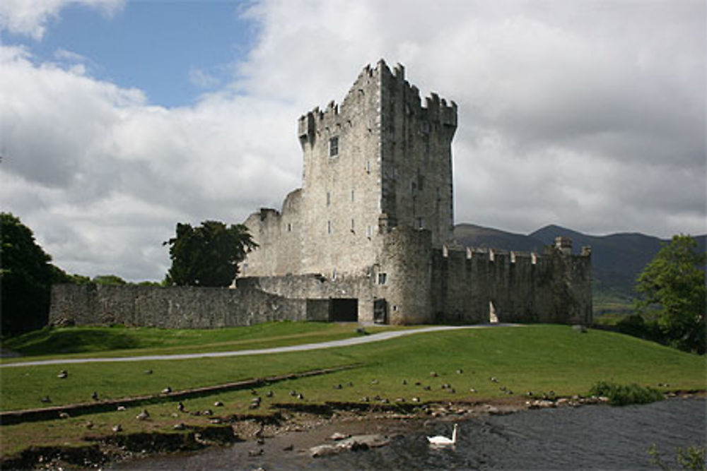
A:
[[[702,0],[4,0],[0,208],[54,263],[162,280],[177,222],[301,184],[366,64],[454,100],[455,222],[707,232]]]

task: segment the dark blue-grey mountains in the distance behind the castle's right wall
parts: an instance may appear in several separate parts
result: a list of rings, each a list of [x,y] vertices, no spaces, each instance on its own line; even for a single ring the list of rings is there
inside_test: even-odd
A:
[[[542,251],[560,235],[572,239],[575,253],[579,253],[582,246],[592,247],[595,290],[625,299],[633,297],[636,277],[645,264],[653,260],[663,243],[670,242],[639,233],[592,236],[556,225],[543,227],[528,235],[472,224],[460,224],[454,228],[454,237],[462,245],[518,251]],[[707,235],[695,239],[699,250],[704,251]]]

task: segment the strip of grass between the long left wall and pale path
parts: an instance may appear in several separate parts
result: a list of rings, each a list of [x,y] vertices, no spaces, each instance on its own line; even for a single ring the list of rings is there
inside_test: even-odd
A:
[[[398,329],[367,327],[369,333]],[[340,340],[359,335],[356,325],[271,322],[256,326],[165,329],[124,326],[44,328],[6,340],[2,347],[25,356],[47,358],[127,357],[148,354],[224,352]],[[22,362],[28,358],[4,359]]]

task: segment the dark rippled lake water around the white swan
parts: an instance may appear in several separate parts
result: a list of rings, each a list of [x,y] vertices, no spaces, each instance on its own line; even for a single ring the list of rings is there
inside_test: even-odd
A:
[[[677,398],[649,405],[529,410],[511,415],[465,419],[454,449],[431,449],[426,435],[451,436],[452,423],[404,422],[376,428],[395,434],[390,446],[370,451],[310,458],[285,452],[278,437],[260,456],[252,443],[119,463],[115,469],[150,470],[645,470],[655,443],[666,463],[675,465],[677,447],[704,445],[706,398]],[[373,424],[368,424],[373,428]],[[370,430],[380,433],[381,430]],[[325,431],[324,433],[329,433]],[[321,443],[321,441],[320,441]],[[268,444],[266,442],[266,444]],[[272,450],[268,451],[268,450]]]

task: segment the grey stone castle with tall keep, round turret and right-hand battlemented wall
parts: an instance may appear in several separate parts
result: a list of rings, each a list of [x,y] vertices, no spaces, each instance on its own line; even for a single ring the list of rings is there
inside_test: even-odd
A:
[[[452,239],[457,105],[384,61],[340,105],[298,120],[303,184],[245,221],[239,288],[306,300],[308,318],[392,324],[590,323],[590,249],[543,254]]]

